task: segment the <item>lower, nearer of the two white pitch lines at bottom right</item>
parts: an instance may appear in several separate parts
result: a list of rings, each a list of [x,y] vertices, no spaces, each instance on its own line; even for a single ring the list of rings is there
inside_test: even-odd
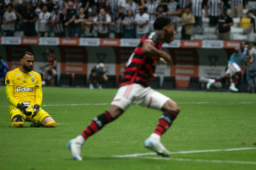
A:
[[[233,163],[233,164],[253,164],[256,162],[245,162],[236,160],[206,160],[206,159],[182,159],[182,158],[163,158],[163,157],[128,157],[128,158],[140,158],[140,159],[157,159],[157,160],[179,160],[179,161],[191,161],[191,162],[210,162],[210,163]]]

